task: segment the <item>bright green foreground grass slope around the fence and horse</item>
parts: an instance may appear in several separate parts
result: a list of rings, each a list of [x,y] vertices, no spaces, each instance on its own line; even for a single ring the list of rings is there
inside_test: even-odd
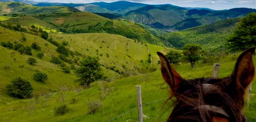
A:
[[[155,55],[155,54],[153,54]],[[224,59],[216,61],[220,63],[219,77],[223,78],[231,74],[235,61],[239,54],[229,55]],[[256,60],[255,56],[253,60]],[[254,62],[256,64],[256,62]],[[199,62],[195,69],[191,69],[190,64],[183,64],[175,66],[176,71],[186,79],[190,78],[202,78],[210,77],[212,72],[212,65],[203,65]],[[63,76],[64,77],[64,76]],[[66,78],[66,77],[65,77]],[[33,81],[32,81],[33,82]],[[164,83],[160,70],[153,72],[149,75],[133,76],[129,78],[119,79],[107,83],[108,88],[112,88],[106,97],[101,99],[102,107],[96,111],[95,114],[88,114],[88,99],[98,99],[101,94],[102,83],[93,83],[92,88],[81,91],[79,94],[75,93],[73,90],[66,90],[62,93],[64,94],[65,101],[61,102],[61,92],[57,91],[51,93],[49,102],[47,106],[45,105],[45,98],[40,97],[38,102],[35,103],[34,99],[27,100],[16,100],[8,99],[7,96],[3,96],[0,100],[0,121],[27,121],[27,122],[107,122],[112,118],[115,118],[121,114],[124,114],[137,105],[136,98],[136,85],[142,86],[142,103],[146,104],[159,99],[168,97],[166,85],[160,85]],[[253,97],[256,93],[255,80],[252,83],[252,92],[250,99],[250,108],[244,109],[243,113],[247,118],[248,122],[255,121],[255,103],[256,99]],[[1,93],[2,94],[2,93]],[[72,99],[79,100],[72,103]],[[143,106],[143,112],[148,119],[144,121],[152,122],[165,122],[169,116],[170,109],[167,109],[171,103],[167,103],[163,109],[164,100],[156,102],[153,104],[148,104]],[[71,109],[70,112],[61,116],[54,114],[54,108],[58,107],[60,104],[67,104]],[[167,111],[166,111],[167,110]],[[14,116],[15,115],[15,116]],[[163,115],[163,116],[161,116]],[[158,117],[158,118],[157,118]],[[123,115],[122,117],[116,118],[111,122],[122,122],[122,121],[136,121],[137,120],[137,109]]]

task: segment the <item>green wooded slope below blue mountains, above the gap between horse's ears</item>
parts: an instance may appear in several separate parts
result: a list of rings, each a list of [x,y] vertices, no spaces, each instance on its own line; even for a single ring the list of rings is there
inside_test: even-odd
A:
[[[226,42],[225,39],[233,33],[239,21],[239,18],[226,19],[209,25],[163,34],[162,37],[177,48],[183,47],[186,43],[201,44],[206,49],[219,48]]]

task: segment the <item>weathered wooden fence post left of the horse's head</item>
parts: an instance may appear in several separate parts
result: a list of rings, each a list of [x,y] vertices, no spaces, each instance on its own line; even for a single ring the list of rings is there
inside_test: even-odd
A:
[[[143,122],[143,113],[142,113],[142,99],[141,99],[141,86],[137,85],[137,102],[138,102],[138,122]]]

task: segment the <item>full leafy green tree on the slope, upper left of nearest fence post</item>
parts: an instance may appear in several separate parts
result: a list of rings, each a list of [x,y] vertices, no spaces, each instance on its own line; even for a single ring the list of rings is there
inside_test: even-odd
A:
[[[98,61],[98,58],[91,56],[79,60],[80,67],[75,71],[76,76],[79,78],[76,82],[78,82],[79,85],[90,88],[91,83],[102,78],[101,64]]]

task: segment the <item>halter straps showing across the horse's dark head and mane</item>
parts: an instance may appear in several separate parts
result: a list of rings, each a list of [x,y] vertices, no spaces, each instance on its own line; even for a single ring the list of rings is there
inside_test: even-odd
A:
[[[202,84],[202,86],[203,86],[203,89],[209,89],[209,87],[213,86],[213,84]],[[191,91],[192,91],[191,89],[188,89],[184,93],[189,93]],[[215,113],[219,113],[219,114],[229,118],[228,113],[223,108],[217,107],[215,105],[200,105],[197,108],[204,108],[207,111],[212,111],[212,112],[215,112]],[[247,122],[247,119],[244,117],[243,114],[242,114],[242,116],[243,116],[242,122]]]

